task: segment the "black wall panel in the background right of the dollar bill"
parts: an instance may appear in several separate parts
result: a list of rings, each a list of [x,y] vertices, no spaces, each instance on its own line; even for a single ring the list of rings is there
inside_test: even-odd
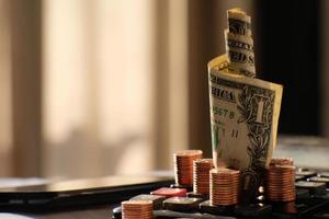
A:
[[[284,85],[280,132],[319,135],[319,1],[258,0],[254,7],[258,76]]]

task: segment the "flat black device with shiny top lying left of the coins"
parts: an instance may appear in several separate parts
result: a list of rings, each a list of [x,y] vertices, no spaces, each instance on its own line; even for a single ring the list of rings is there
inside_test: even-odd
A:
[[[48,211],[114,204],[172,183],[170,176],[106,176],[0,188],[0,211]]]

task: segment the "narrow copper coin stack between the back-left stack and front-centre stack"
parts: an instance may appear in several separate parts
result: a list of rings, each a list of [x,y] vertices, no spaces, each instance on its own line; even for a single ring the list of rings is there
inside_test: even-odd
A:
[[[209,171],[214,168],[213,159],[197,159],[193,162],[193,192],[209,194]]]

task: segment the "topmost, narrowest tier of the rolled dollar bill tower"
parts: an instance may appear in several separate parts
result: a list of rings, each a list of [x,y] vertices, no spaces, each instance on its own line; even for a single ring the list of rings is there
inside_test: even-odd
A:
[[[227,11],[228,28],[230,33],[251,36],[251,18],[239,8]]]

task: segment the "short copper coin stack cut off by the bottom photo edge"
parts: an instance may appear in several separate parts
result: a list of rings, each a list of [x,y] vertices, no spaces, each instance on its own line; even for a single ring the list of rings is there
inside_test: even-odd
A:
[[[151,200],[126,200],[121,203],[123,219],[151,219],[154,206]]]

